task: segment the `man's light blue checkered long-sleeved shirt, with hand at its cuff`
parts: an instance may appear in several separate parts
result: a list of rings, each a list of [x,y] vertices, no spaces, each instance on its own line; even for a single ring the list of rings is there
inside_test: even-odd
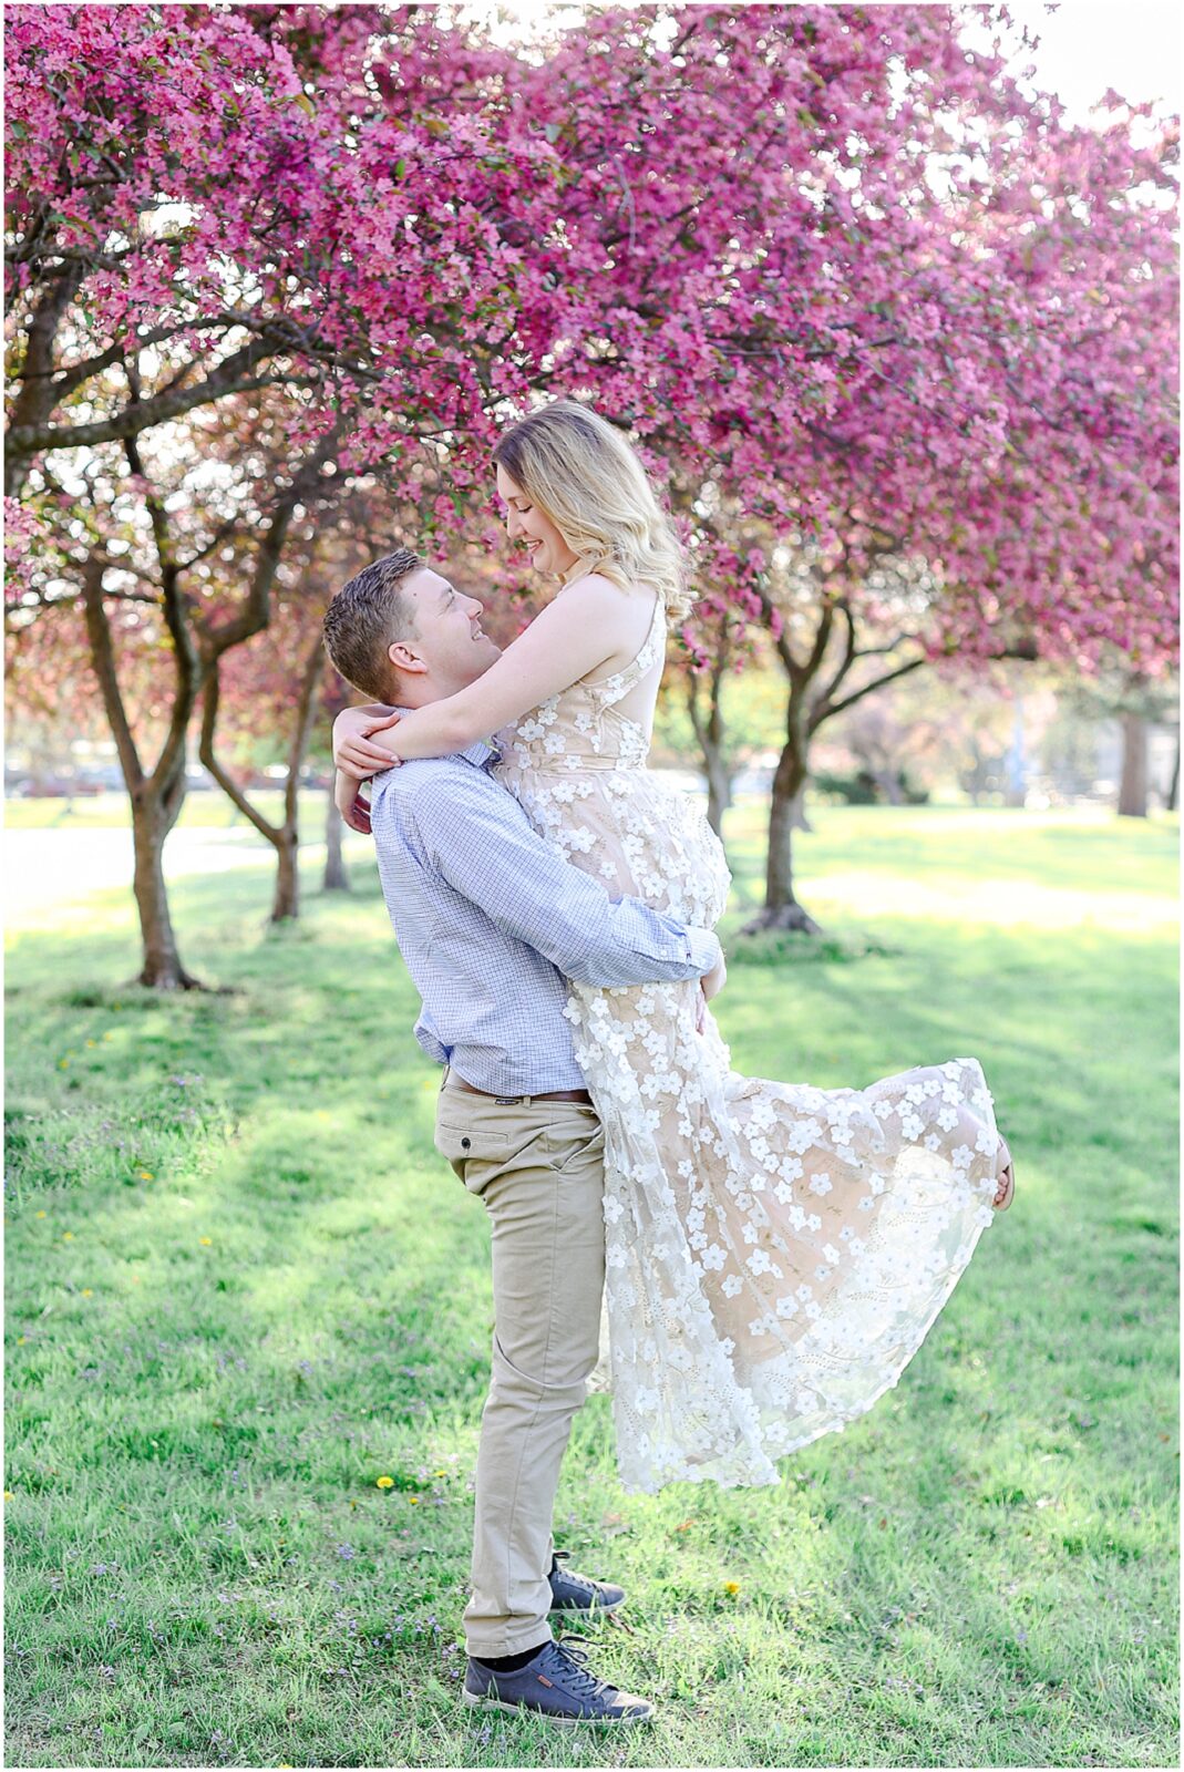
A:
[[[374,776],[370,828],[395,939],[422,998],[415,1037],[491,1095],[583,1088],[564,978],[698,978],[720,957],[636,898],[610,898],[532,826],[473,744]]]

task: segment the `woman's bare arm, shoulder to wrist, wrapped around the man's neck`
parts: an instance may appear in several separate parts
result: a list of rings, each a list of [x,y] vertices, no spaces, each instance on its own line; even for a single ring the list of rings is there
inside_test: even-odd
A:
[[[397,758],[448,757],[528,714],[627,641],[629,597],[597,574],[569,585],[468,689],[417,707],[374,744]]]

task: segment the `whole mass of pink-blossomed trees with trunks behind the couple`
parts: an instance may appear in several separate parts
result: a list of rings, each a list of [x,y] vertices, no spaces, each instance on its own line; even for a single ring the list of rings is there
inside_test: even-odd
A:
[[[528,618],[487,450],[558,393],[682,525],[656,742],[693,741],[720,829],[767,792],[759,927],[815,927],[810,794],[1069,792],[1106,714],[1120,810],[1173,799],[1177,131],[1117,94],[1069,122],[971,12],[991,48],[941,5],[562,9],[514,44],[425,7],[9,9],[11,707],[39,755],[103,709],[144,983],[193,983],[163,845],[199,751],[296,913],[342,695],[315,631],[363,556]]]

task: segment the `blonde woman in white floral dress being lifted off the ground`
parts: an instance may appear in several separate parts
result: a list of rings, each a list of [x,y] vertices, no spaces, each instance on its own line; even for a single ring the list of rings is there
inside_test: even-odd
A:
[[[560,592],[482,679],[378,730],[354,776],[496,732],[500,780],[574,863],[686,923],[730,875],[645,769],[682,556],[627,441],[558,400],[495,450],[507,530]],[[363,734],[372,734],[369,739]],[[698,985],[571,985],[604,1125],[606,1318],[627,1488],[775,1483],[897,1382],[991,1223],[1010,1154],[973,1058],[867,1090],[741,1077]]]

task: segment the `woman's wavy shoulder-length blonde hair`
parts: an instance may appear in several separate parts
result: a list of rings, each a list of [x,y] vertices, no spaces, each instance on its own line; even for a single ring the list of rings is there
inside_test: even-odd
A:
[[[613,425],[576,400],[553,400],[510,425],[493,459],[548,514],[585,572],[622,590],[652,585],[668,620],[686,618],[695,599],[679,537]]]

